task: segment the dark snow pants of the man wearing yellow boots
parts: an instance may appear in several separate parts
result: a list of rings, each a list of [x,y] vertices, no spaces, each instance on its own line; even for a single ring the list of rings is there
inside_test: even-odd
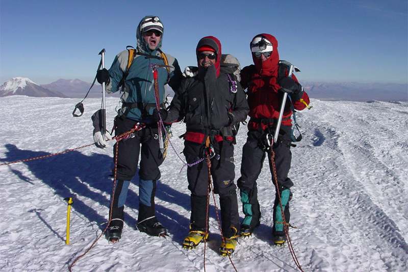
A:
[[[221,208],[221,229],[224,237],[235,235],[232,228],[239,232],[239,212],[237,186],[234,184],[234,145],[232,141],[219,141],[213,144],[215,156],[211,161],[211,177],[214,193],[219,195]],[[184,155],[187,163],[196,163],[205,153],[205,144],[184,142]],[[222,156],[219,156],[222,152]],[[191,230],[206,231],[207,197],[209,190],[209,169],[207,159],[187,168],[188,189],[191,192]]]

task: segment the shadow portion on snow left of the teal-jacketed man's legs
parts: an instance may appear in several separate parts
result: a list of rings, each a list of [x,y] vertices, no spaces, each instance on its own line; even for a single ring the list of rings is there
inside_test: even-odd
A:
[[[1,159],[2,162],[14,162],[50,155],[50,153],[43,151],[19,150],[13,144],[6,144],[5,147],[7,149],[6,158]],[[109,165],[111,162],[112,159],[107,155],[92,154],[86,156],[78,151],[72,151],[58,156],[24,161],[23,163],[28,166],[32,175],[52,188],[61,200],[66,197],[74,197],[75,201],[72,208],[75,212],[82,214],[90,222],[96,222],[97,225],[100,225],[100,222],[106,221],[106,218],[90,208],[87,203],[90,204],[90,199],[100,205],[109,206],[109,199],[101,192],[109,194],[112,182],[108,178],[107,171],[100,169],[105,169],[106,164]],[[12,172],[20,180],[35,185],[35,181],[24,176],[22,172],[18,170],[12,170]],[[101,192],[95,192],[92,187]],[[103,227],[100,226],[100,228]]]

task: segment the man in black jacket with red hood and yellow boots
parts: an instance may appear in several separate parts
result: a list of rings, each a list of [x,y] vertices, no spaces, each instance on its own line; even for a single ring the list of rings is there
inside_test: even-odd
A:
[[[244,121],[249,107],[235,76],[220,71],[221,44],[202,38],[196,47],[198,75],[182,81],[167,112],[166,122],[184,118],[184,155],[189,165],[191,191],[190,232],[183,247],[194,249],[208,237],[209,179],[219,194],[222,219],[222,255],[235,251],[240,222],[234,184],[233,125]],[[211,177],[209,177],[209,171]]]

